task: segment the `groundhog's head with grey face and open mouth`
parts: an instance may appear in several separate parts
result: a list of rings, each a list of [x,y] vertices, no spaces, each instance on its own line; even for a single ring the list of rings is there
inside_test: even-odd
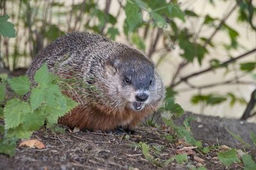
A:
[[[153,63],[140,52],[132,51],[112,59],[107,65],[107,75],[112,100],[109,102],[113,107],[133,111],[156,109],[164,97],[161,78]]]

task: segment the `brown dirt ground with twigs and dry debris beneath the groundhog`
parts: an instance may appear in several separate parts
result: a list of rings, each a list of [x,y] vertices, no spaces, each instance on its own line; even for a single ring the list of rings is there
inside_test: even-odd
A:
[[[186,114],[177,121],[179,124]],[[227,134],[224,127],[232,132],[238,130],[242,137],[246,136],[250,130],[256,132],[253,123],[239,123],[237,120],[212,118],[207,116],[193,115],[197,121],[192,123],[193,133],[196,138],[203,139],[204,146],[218,146],[226,144],[230,147],[241,148],[236,141]],[[198,119],[199,118],[199,119]],[[202,154],[196,148],[192,148],[192,154],[188,157],[188,162],[177,164],[172,162],[167,166],[156,166],[145,159],[142,150],[136,143],[140,141],[147,143],[151,148],[161,146],[161,153],[154,155],[161,160],[170,157],[184,149],[185,143],[169,143],[164,139],[167,134],[165,130],[152,127],[138,127],[135,135],[129,135],[129,139],[124,139],[124,135],[103,134],[98,132],[70,132],[54,135],[44,130],[35,132],[32,139],[38,139],[45,144],[42,150],[33,148],[17,148],[16,155],[9,158],[0,155],[0,169],[189,169],[191,166],[205,166],[207,169],[227,169],[219,161],[217,150]],[[218,141],[216,141],[218,137]],[[248,136],[244,139],[248,140]],[[235,142],[235,143],[234,143]],[[249,143],[249,141],[248,141]],[[190,150],[191,151],[191,150]],[[256,157],[255,148],[250,148],[248,152]],[[202,159],[200,159],[202,158]],[[243,164],[233,164],[228,169],[243,169]]]

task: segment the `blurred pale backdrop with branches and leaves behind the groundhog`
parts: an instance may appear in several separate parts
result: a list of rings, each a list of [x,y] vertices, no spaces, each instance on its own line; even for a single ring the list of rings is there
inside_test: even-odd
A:
[[[256,1],[0,0],[0,73],[70,31],[145,52],[186,111],[256,122]]]

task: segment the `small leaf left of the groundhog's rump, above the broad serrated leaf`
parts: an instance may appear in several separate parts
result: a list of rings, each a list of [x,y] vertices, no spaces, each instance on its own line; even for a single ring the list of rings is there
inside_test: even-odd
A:
[[[30,82],[27,76],[13,77],[12,79],[7,79],[7,81],[18,95],[25,95],[30,90]]]

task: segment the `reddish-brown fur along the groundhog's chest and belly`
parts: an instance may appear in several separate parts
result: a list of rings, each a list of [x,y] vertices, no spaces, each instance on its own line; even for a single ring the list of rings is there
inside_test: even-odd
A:
[[[91,130],[114,130],[116,127],[135,127],[146,115],[147,109],[136,112],[125,109],[123,112],[106,114],[95,107],[78,106],[65,116],[60,118],[59,123],[68,127],[88,128]]]

